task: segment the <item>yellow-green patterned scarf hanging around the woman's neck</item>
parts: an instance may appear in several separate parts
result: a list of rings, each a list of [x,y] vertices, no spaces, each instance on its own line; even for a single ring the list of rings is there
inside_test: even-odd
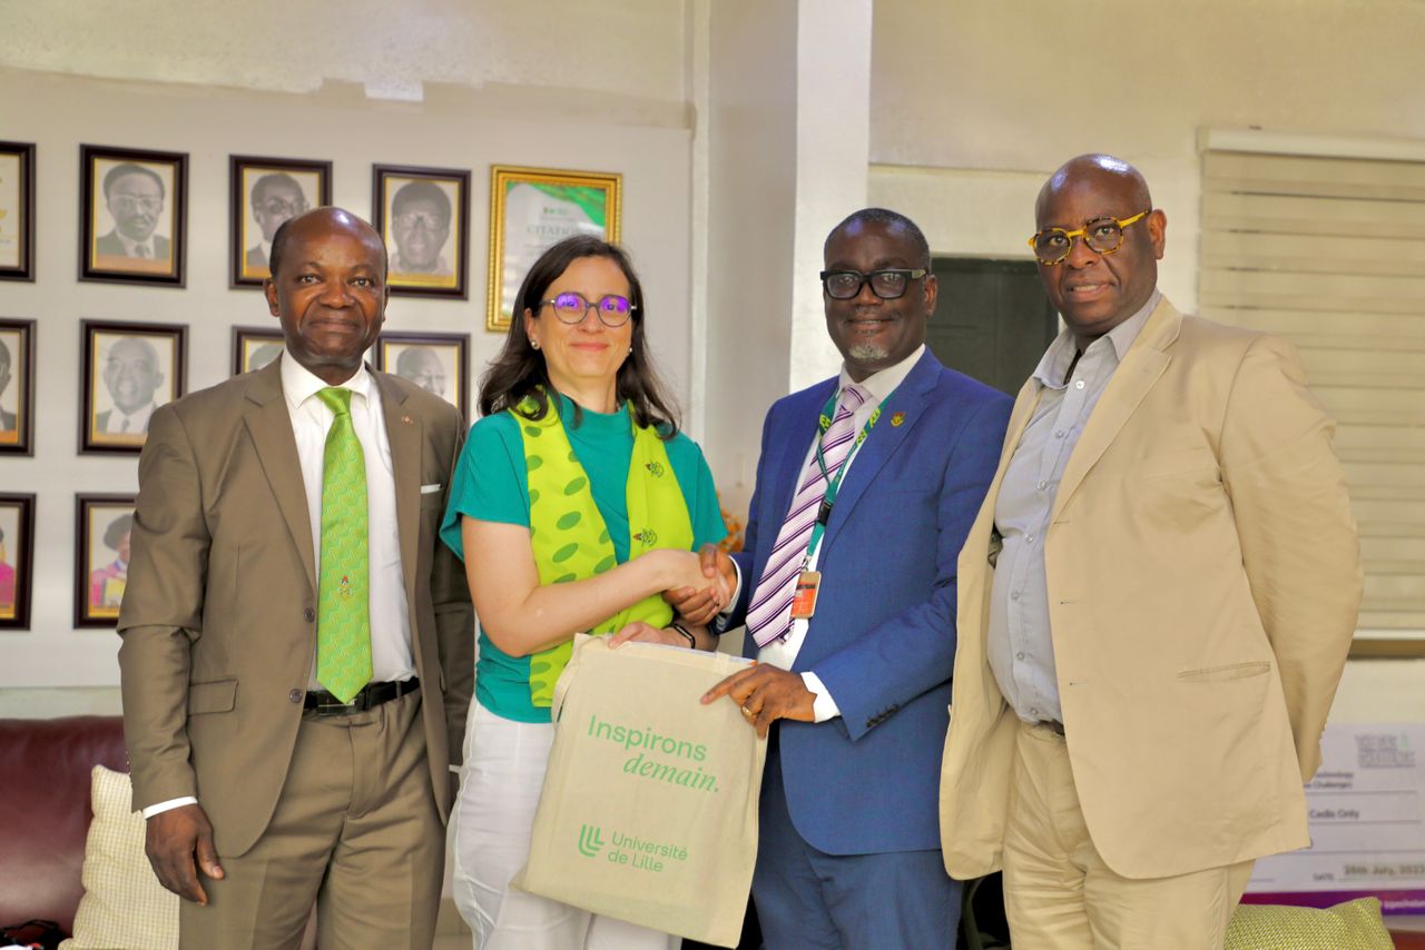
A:
[[[529,419],[533,399],[512,409],[524,446],[529,473],[530,544],[540,584],[566,584],[603,574],[617,564],[608,526],[594,504],[589,473],[579,463],[569,433],[559,417],[559,397],[550,395],[543,419]],[[628,464],[628,560],[656,548],[693,550],[693,520],[683,489],[668,461],[668,450],[651,426],[633,427],[633,459]],[[633,621],[664,627],[673,608],[653,594],[626,607],[589,632],[611,634]],[[554,682],[569,664],[573,641],[530,657],[530,702],[547,708]]]

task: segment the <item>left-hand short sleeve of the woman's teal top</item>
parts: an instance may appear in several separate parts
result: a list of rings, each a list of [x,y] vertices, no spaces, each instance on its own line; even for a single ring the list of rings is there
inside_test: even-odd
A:
[[[455,467],[455,484],[440,521],[440,540],[463,561],[460,516],[524,527],[530,524],[524,443],[509,413],[486,416],[470,426],[470,437],[465,440]]]

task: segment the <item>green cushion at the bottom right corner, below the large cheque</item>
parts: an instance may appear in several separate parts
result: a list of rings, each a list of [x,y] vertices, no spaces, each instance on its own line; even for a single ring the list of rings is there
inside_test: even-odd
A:
[[[1392,950],[1377,897],[1335,907],[1241,904],[1227,927],[1226,950]]]

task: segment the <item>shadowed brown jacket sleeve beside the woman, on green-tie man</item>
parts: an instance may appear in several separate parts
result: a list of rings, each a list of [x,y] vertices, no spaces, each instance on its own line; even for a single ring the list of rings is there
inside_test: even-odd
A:
[[[452,410],[453,412],[453,410]],[[457,413],[453,422],[450,457],[446,460],[445,501],[450,499],[456,461],[465,444],[465,432]],[[450,741],[450,765],[463,762],[465,722],[475,694],[475,605],[465,580],[465,565],[439,538],[430,564],[430,600],[436,614],[436,644],[440,669],[445,671],[445,716]]]

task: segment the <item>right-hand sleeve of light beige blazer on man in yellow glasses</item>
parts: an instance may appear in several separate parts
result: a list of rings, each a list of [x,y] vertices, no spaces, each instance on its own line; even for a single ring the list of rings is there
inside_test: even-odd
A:
[[[1287,696],[1302,781],[1321,763],[1321,731],[1361,607],[1361,548],[1335,424],[1307,390],[1284,340],[1247,349],[1223,420],[1223,480],[1243,563]]]

